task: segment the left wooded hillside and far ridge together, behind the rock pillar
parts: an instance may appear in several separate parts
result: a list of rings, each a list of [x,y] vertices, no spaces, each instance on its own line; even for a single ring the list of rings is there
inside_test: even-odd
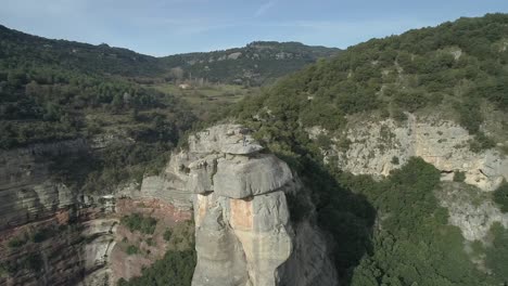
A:
[[[233,82],[233,75],[240,73],[238,68],[259,64],[251,81],[259,84],[335,51],[301,43],[257,44],[264,50],[257,54],[259,58],[246,62],[244,56],[228,57],[245,49],[157,58],[105,43],[51,40],[0,26],[0,148],[77,138],[94,142],[114,139],[117,144],[110,146],[112,150],[105,151],[104,156],[87,158],[91,176],[88,188],[114,185],[132,176],[140,178],[165,162],[169,150],[198,117],[214,112],[203,112],[202,107],[188,104],[185,96],[174,96],[177,83],[192,84],[198,79]],[[283,58],[272,64],[276,54]],[[213,70],[199,64],[212,57],[217,57],[217,63],[211,65]],[[152,84],[155,82],[174,88],[161,91]],[[219,90],[209,89],[213,95]]]

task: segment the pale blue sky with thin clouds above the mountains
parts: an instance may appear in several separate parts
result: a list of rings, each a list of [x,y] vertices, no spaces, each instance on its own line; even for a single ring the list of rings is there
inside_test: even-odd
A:
[[[0,0],[10,28],[156,56],[254,40],[346,48],[492,12],[508,0]]]

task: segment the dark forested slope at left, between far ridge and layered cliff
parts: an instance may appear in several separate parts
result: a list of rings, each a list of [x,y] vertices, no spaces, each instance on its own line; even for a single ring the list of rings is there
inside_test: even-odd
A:
[[[13,62],[0,58],[2,148],[105,133],[115,118],[126,135],[175,142],[193,120],[175,98],[126,80]]]

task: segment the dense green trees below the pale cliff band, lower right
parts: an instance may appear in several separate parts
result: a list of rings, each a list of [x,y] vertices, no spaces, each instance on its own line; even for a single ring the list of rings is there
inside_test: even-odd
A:
[[[352,285],[495,285],[503,273],[482,273],[463,249],[460,230],[434,196],[440,171],[412,159],[386,180],[340,177],[377,210],[369,256],[353,271]],[[494,246],[498,247],[498,246]],[[503,246],[499,246],[503,249]]]

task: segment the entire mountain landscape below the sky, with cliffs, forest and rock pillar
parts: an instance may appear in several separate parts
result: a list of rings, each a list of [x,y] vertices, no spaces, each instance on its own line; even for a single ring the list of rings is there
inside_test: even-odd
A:
[[[505,285],[508,15],[155,57],[0,27],[0,285]]]

